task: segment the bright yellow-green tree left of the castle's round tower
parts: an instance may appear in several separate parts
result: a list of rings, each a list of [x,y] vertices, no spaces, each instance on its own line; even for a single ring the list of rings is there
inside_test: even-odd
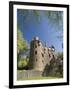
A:
[[[22,32],[17,30],[17,68],[18,63],[21,59],[22,52],[26,51],[28,48],[26,40],[23,38]]]

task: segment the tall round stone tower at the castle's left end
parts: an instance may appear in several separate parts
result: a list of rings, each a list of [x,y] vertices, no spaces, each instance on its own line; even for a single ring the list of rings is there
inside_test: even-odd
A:
[[[43,71],[44,69],[43,46],[38,37],[31,41],[29,66],[31,69],[38,71]]]

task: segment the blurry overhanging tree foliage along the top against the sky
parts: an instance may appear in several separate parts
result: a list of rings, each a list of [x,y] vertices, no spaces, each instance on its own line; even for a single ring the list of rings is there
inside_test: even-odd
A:
[[[45,10],[19,10],[20,14],[23,15],[24,21],[28,22],[30,16],[34,17],[35,21],[40,22],[41,14],[43,13],[45,17],[51,21],[52,24],[57,24],[57,26],[63,25],[63,12],[62,11],[45,11]]]

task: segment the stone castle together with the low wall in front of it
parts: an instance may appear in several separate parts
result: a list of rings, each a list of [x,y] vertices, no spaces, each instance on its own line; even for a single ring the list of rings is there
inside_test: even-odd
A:
[[[25,69],[21,74],[18,72],[17,78],[42,76],[46,65],[50,65],[50,61],[55,57],[53,51],[53,48],[43,46],[40,39],[35,37],[30,43],[28,69]]]

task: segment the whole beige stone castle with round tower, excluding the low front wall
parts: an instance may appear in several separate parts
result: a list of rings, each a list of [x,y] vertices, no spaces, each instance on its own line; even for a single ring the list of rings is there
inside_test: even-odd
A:
[[[35,37],[30,43],[29,67],[36,71],[43,71],[54,57],[53,49],[43,46],[39,37]]]

